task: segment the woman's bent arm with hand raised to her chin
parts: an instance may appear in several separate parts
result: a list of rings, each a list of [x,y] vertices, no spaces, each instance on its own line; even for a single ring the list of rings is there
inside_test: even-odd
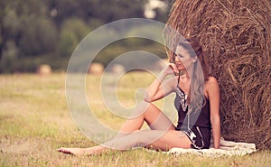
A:
[[[154,79],[151,85],[146,88],[145,92],[145,101],[153,102],[162,97],[167,96],[171,92],[173,92],[174,85],[176,86],[177,80],[175,78],[166,79],[166,76],[169,74],[177,73],[178,70],[173,63],[167,64],[164,70],[161,70],[158,77]]]

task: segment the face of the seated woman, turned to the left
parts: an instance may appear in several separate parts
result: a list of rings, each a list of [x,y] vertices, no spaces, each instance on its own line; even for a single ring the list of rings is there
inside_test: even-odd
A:
[[[184,49],[181,45],[178,45],[175,51],[174,64],[178,70],[184,70],[192,66],[197,58],[191,58],[189,52]]]

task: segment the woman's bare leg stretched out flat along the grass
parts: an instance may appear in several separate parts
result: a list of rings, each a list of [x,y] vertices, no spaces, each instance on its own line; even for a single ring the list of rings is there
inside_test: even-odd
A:
[[[103,145],[90,148],[61,148],[59,152],[74,155],[94,155],[108,151],[125,151],[139,146],[168,151],[173,147],[191,148],[191,144],[191,141],[182,131],[140,130],[115,138]]]

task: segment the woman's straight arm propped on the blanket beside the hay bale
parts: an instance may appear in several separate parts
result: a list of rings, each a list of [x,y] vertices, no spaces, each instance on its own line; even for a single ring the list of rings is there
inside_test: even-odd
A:
[[[220,148],[220,87],[214,77],[210,77],[208,80],[208,97],[214,148]]]

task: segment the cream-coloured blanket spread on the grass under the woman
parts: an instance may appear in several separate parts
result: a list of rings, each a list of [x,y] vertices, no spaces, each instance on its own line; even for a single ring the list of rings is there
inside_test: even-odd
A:
[[[180,155],[182,153],[193,153],[199,154],[203,156],[213,156],[213,157],[220,157],[222,155],[228,156],[243,156],[248,153],[256,152],[256,144],[248,144],[248,143],[237,143],[226,141],[222,137],[220,138],[220,149],[213,148],[213,144],[210,144],[209,149],[182,149],[182,148],[172,148],[167,153]]]

